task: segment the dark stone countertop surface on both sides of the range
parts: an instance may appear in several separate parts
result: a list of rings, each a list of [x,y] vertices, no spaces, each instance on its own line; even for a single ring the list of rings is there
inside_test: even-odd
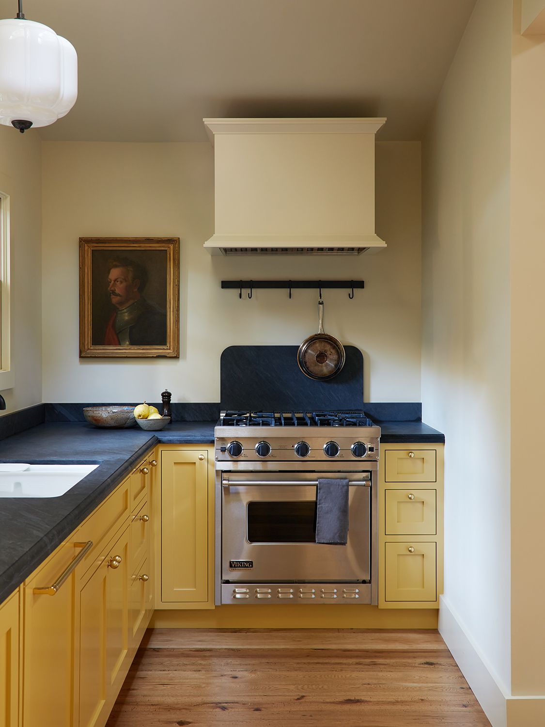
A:
[[[376,422],[382,443],[441,443],[422,422]],[[158,443],[214,442],[215,422],[172,422],[162,432],[46,423],[0,441],[0,462],[97,464],[61,497],[0,498],[0,603],[98,507]]]

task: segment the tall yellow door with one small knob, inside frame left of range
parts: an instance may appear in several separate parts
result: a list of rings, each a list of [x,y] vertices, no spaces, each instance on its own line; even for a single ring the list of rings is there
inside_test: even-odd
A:
[[[161,601],[208,600],[209,526],[208,451],[161,452]]]

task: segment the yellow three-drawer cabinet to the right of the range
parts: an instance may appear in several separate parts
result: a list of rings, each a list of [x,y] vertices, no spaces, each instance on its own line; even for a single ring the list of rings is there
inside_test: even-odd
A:
[[[381,444],[379,608],[439,608],[443,449],[440,443]]]

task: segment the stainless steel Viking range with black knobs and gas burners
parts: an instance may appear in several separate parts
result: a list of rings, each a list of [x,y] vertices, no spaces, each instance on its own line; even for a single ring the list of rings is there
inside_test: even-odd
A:
[[[377,603],[380,428],[363,411],[223,411],[215,603]],[[316,542],[322,478],[347,479],[346,545]]]

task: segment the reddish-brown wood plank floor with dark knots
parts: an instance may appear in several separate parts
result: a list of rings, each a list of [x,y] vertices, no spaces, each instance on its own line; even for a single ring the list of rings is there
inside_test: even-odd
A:
[[[437,631],[148,630],[106,727],[490,727]]]

